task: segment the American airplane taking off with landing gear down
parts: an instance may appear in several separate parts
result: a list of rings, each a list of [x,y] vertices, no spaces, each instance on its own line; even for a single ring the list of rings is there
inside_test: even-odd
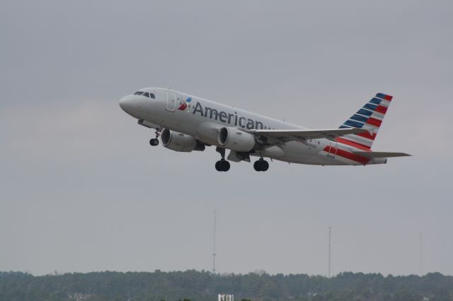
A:
[[[269,163],[264,158],[309,165],[371,165],[407,156],[371,150],[391,100],[392,96],[377,93],[338,129],[306,129],[165,88],[140,89],[121,98],[120,107],[138,124],[156,129],[151,146],[159,145],[159,136],[173,151],[216,146],[222,156],[215,163],[217,171],[228,171],[229,161],[250,162],[255,156],[254,169],[265,172]]]

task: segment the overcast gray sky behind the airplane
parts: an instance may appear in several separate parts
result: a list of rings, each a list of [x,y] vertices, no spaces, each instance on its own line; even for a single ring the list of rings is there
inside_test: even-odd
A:
[[[452,1],[1,1],[0,271],[453,273]],[[394,95],[386,165],[151,148],[118,100],[173,89],[312,128]]]

